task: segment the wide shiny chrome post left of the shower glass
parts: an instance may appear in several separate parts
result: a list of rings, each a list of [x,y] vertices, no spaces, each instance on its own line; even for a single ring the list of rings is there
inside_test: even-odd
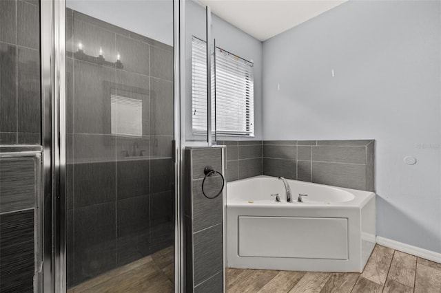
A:
[[[65,0],[41,0],[43,292],[65,292]]]

